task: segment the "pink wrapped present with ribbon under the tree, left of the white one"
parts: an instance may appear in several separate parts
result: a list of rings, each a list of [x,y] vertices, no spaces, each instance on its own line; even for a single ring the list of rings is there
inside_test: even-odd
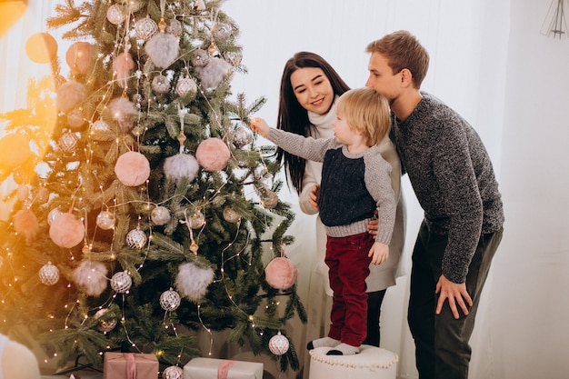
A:
[[[103,379],[158,379],[155,354],[105,353]]]

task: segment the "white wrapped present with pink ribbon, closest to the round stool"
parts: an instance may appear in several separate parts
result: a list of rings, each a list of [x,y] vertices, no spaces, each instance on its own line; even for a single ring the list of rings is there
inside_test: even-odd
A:
[[[263,364],[194,358],[184,366],[184,379],[263,379]]]

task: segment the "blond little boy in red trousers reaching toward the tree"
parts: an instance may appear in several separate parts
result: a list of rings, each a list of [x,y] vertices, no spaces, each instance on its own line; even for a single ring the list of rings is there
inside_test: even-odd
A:
[[[320,218],[326,228],[325,263],[334,291],[327,337],[308,343],[333,347],[328,355],[359,353],[365,339],[369,264],[382,264],[389,255],[394,229],[395,197],[391,165],[376,145],[389,132],[389,105],[374,89],[359,88],[340,96],[334,136],[314,139],[270,128],[265,120],[251,120],[251,129],[290,154],[323,162],[318,196]],[[378,232],[367,224],[378,212]]]

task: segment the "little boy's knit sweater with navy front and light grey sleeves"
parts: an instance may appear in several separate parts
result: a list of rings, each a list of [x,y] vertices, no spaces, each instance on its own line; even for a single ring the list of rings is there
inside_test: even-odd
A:
[[[378,210],[376,242],[389,244],[395,222],[395,196],[391,165],[375,146],[350,154],[347,147],[330,139],[314,139],[270,129],[267,139],[292,155],[323,162],[318,197],[320,219],[326,234],[343,237],[367,232]]]

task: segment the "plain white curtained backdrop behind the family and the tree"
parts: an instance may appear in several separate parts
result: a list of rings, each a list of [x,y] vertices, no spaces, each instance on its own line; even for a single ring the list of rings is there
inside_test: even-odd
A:
[[[25,39],[46,31],[43,20],[54,4],[31,1],[36,18],[0,39],[0,112],[25,104],[26,78],[38,70],[25,56]],[[267,97],[257,115],[268,121],[276,118],[284,62],[297,51],[324,56],[357,87],[367,77],[364,47],[372,40],[407,29],[428,49],[431,66],[423,89],[474,125],[504,197],[504,240],[471,340],[473,379],[562,379],[569,373],[569,31],[562,38],[540,33],[550,5],[557,1],[228,0],[224,5],[240,25],[248,69],[247,75],[235,75],[234,93],[245,92],[249,101]],[[422,210],[406,177],[404,195],[409,265]],[[292,192],[280,196],[296,212],[289,229],[296,242],[286,253],[298,266],[306,302],[314,274],[314,216],[302,214]],[[400,379],[418,377],[405,319],[407,296],[404,276],[388,290],[382,312],[382,347],[399,354]],[[302,364],[306,327],[289,328]],[[275,377],[296,376],[279,375],[270,361],[265,369]]]

